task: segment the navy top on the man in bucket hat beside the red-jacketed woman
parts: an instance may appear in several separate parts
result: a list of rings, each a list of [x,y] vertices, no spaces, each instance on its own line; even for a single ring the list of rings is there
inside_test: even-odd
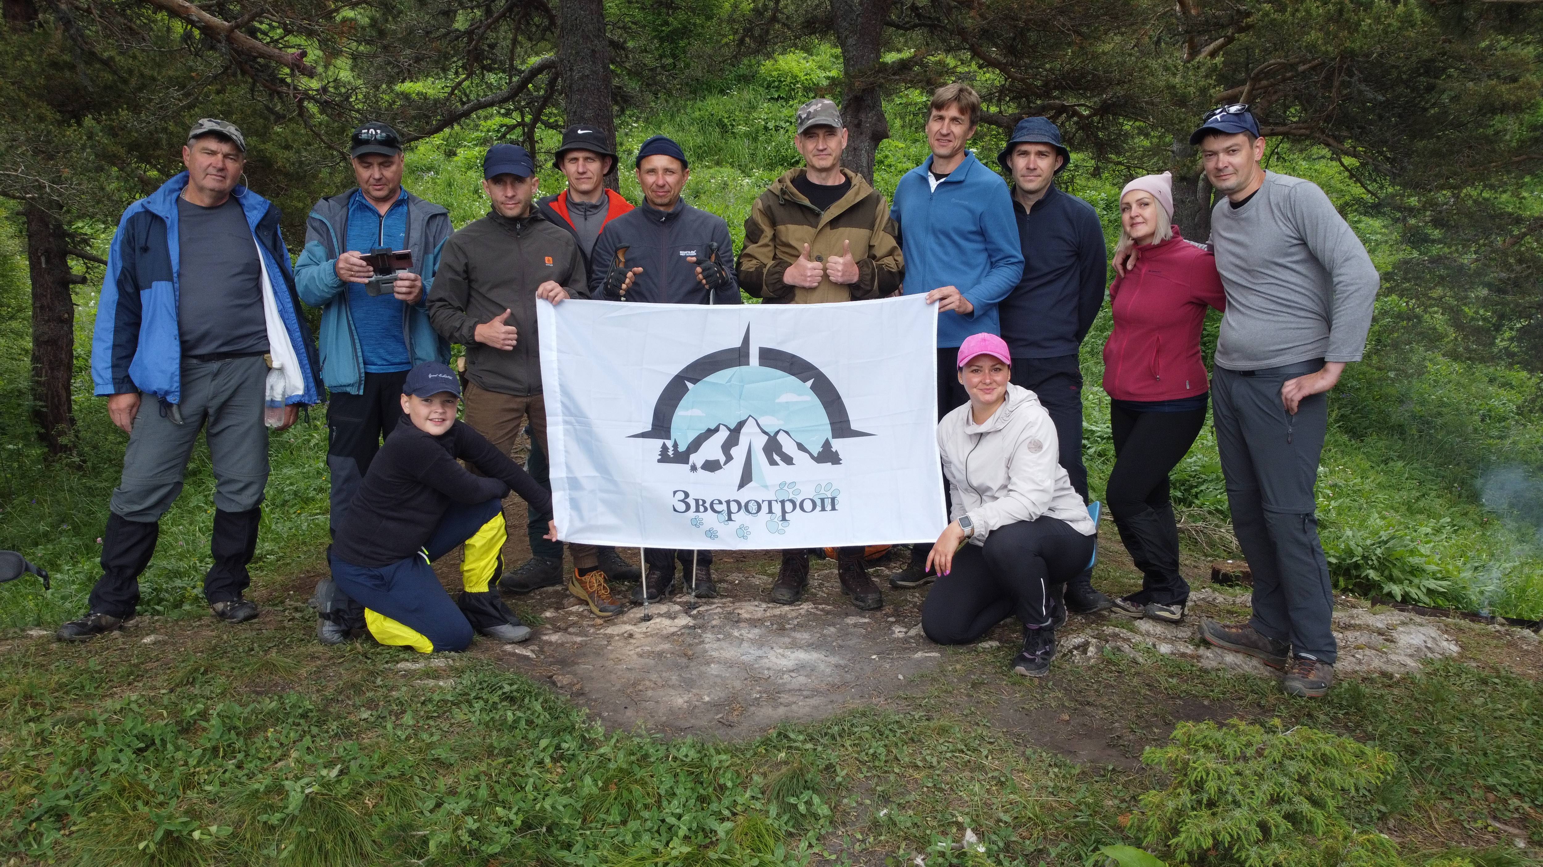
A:
[[[1023,241],[1023,279],[1001,304],[1001,339],[1014,358],[1077,355],[1103,305],[1109,268],[1092,205],[1055,184],[1032,211],[1014,199]]]

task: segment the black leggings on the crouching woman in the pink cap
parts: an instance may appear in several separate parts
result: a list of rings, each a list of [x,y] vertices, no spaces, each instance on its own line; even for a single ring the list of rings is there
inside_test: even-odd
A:
[[[1048,626],[1054,594],[1088,568],[1092,537],[1042,515],[991,531],[986,545],[966,545],[950,574],[940,575],[921,603],[921,631],[940,645],[964,645],[1008,616],[1029,628]]]

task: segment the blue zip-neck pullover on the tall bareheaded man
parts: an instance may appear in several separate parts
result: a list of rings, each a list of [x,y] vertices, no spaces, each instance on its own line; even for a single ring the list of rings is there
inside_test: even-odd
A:
[[[1018,285],[1023,250],[1012,194],[995,171],[967,153],[934,191],[930,167],[929,156],[900,179],[889,216],[906,253],[906,295],[957,285],[975,307],[967,316],[938,316],[938,347],[955,347],[971,335],[997,333],[997,302]]]

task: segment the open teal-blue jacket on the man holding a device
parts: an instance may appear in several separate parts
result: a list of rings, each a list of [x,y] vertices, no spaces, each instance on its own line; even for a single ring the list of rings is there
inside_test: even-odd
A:
[[[336,261],[347,250],[349,197],[353,190],[321,199],[306,221],[306,248],[295,262],[299,298],[321,307],[321,380],[333,392],[364,393],[364,350],[349,315],[347,284],[338,278]],[[407,193],[407,248],[412,270],[423,278],[423,299],[427,301],[434,273],[440,267],[440,250],[451,236],[451,213]],[[403,339],[412,366],[424,361],[451,359],[451,344],[429,324],[424,302],[403,305]]]

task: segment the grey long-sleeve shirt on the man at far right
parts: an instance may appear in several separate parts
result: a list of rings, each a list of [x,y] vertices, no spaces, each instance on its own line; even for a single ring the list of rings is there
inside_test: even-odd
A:
[[[1219,367],[1361,361],[1381,278],[1316,184],[1265,173],[1241,208],[1217,202],[1211,247],[1227,288]]]

